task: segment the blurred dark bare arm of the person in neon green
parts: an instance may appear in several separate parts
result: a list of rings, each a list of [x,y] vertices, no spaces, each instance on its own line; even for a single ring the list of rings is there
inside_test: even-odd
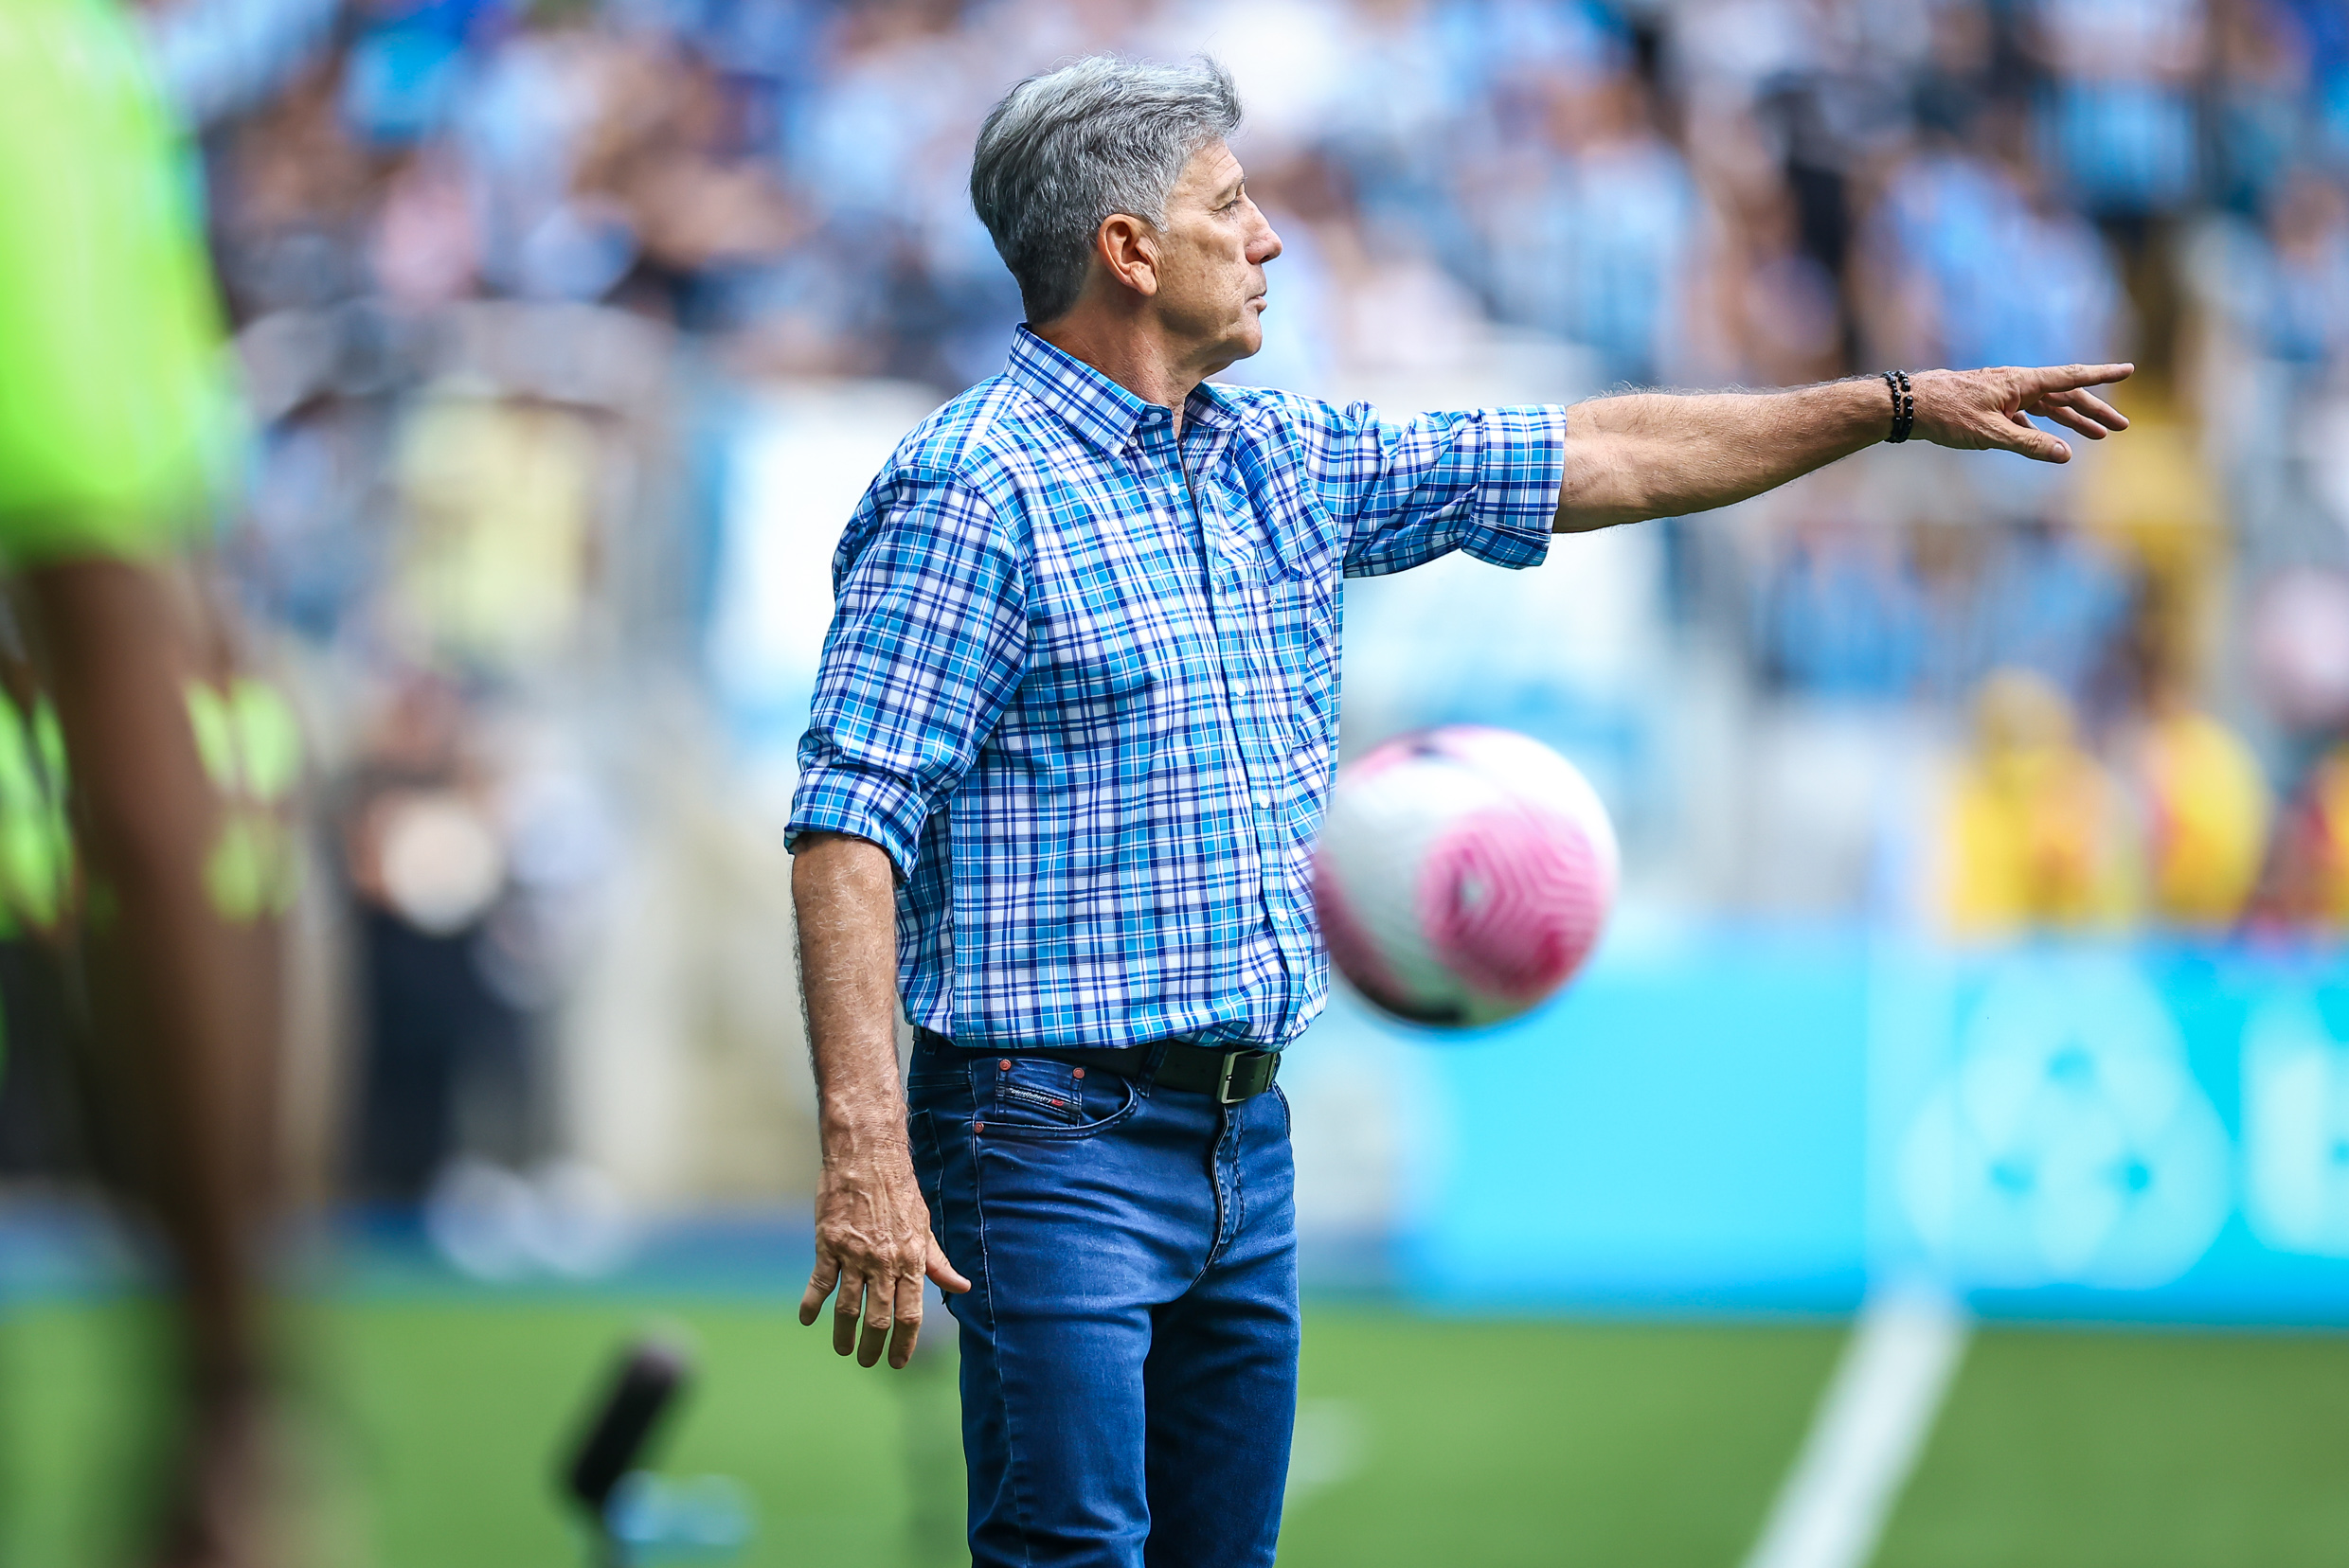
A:
[[[75,561],[23,575],[56,699],[89,885],[113,918],[82,944],[101,1115],[150,1204],[188,1310],[197,1387],[256,1376],[256,1251],[270,1199],[272,932],[218,908],[223,803],[188,723],[207,629],[167,570]]]

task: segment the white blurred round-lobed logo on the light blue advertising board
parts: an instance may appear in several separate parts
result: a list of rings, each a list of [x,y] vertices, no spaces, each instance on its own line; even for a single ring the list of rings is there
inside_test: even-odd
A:
[[[1973,1009],[1900,1150],[1957,1284],[2168,1284],[2229,1209],[2227,1129],[2161,998],[2119,962],[2022,962]]]

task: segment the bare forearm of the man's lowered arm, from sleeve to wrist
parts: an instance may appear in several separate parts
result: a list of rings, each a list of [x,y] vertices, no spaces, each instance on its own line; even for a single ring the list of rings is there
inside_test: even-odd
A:
[[[888,854],[810,833],[792,857],[799,972],[824,1160],[904,1141],[897,1084],[897,892]]]

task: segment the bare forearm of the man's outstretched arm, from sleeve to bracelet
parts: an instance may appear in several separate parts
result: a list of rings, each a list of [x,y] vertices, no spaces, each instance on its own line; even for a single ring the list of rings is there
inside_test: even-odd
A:
[[[1630,392],[1567,411],[1557,533],[1710,512],[1884,439],[1879,378],[1790,392]]]

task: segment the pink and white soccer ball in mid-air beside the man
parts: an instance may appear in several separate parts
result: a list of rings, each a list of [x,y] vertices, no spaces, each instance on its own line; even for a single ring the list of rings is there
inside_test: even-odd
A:
[[[1574,763],[1515,730],[1445,725],[1339,768],[1313,892],[1355,991],[1416,1023],[1478,1026],[1574,976],[1618,873]]]

